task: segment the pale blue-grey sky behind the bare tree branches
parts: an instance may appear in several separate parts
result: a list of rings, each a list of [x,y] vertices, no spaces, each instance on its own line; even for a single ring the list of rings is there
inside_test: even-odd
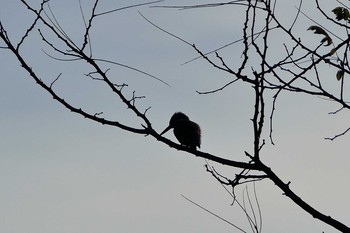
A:
[[[38,1],[29,2],[38,6]],[[81,2],[88,14],[92,1]],[[97,11],[142,2],[101,1]],[[158,5],[175,3],[198,1],[164,1]],[[298,2],[279,4],[277,16],[290,24]],[[329,11],[337,6],[333,1],[323,4]],[[79,1],[51,0],[50,6],[70,38],[81,43],[84,24]],[[203,51],[211,51],[241,38],[243,9],[143,6],[100,16],[91,32],[93,55],[135,67],[170,84],[120,66],[101,64],[109,69],[112,80],[129,85],[124,89],[126,95],[132,96],[135,90],[146,96],[137,104],[141,109],[151,107],[148,116],[158,132],[167,126],[174,112],[182,111],[201,126],[202,151],[246,161],[244,151],[251,151],[253,145],[252,89],[237,83],[216,94],[197,94],[221,87],[233,77],[202,59],[183,65],[198,56],[196,51],[153,27],[139,14]],[[303,9],[317,22],[329,23],[315,11],[313,1],[304,2]],[[33,16],[20,1],[2,0],[0,20],[10,38],[19,41]],[[295,32],[306,43],[317,45],[321,38],[307,31],[312,24],[301,16]],[[59,45],[49,31],[43,33]],[[342,35],[344,31],[335,33]],[[281,40],[283,37],[271,38],[276,56]],[[48,57],[45,52],[59,55],[42,42],[37,30],[30,34],[21,52],[45,82],[52,82],[62,73],[53,88],[72,105],[140,126],[141,122],[102,82],[84,75],[91,71],[86,64]],[[241,52],[238,43],[220,54],[235,67],[240,64]],[[322,77],[336,90],[339,82],[334,70],[323,68]],[[41,89],[6,50],[0,50],[0,69],[0,232],[240,232],[181,195],[251,232],[244,213],[237,204],[231,205],[232,197],[205,171],[204,159],[68,111]],[[332,142],[324,140],[349,127],[349,113],[331,115],[329,112],[339,106],[295,93],[283,93],[276,107],[275,145],[266,144],[262,161],[285,182],[290,181],[292,190],[306,202],[350,225],[350,134]],[[176,141],[172,132],[165,136]],[[268,133],[264,137],[268,138]],[[226,176],[239,172],[210,164]],[[258,182],[255,187],[263,217],[262,232],[337,232],[303,212],[271,181]],[[238,201],[243,201],[246,188],[253,195],[252,184],[242,185],[236,190]]]

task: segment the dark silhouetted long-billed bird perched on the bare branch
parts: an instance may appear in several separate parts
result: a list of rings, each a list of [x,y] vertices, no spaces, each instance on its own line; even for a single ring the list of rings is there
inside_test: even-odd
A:
[[[170,129],[174,129],[174,135],[181,145],[196,150],[201,145],[201,128],[199,125],[182,112],[175,112],[170,118],[169,126],[160,134],[163,135]]]

